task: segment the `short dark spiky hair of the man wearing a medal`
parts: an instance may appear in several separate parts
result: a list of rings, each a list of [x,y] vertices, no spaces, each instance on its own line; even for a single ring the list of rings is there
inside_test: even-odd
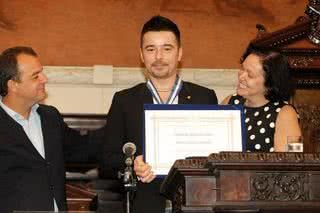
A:
[[[142,47],[143,36],[147,32],[159,32],[159,31],[169,31],[172,32],[178,42],[178,46],[181,46],[181,39],[180,39],[180,30],[178,26],[171,21],[170,19],[163,17],[163,16],[153,16],[149,21],[147,21],[141,30],[140,35],[140,46]]]

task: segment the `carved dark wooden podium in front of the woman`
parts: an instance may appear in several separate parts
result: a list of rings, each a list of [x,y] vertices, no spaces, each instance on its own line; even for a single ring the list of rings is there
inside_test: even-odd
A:
[[[320,212],[320,153],[177,160],[161,186],[173,212]]]

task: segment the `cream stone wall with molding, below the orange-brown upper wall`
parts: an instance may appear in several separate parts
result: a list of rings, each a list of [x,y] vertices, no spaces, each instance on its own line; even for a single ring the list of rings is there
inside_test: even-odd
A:
[[[116,91],[144,81],[142,68],[46,66],[44,70],[49,78],[45,103],[62,113],[107,113]],[[190,68],[180,73],[186,81],[214,89],[219,102],[235,91],[235,69]]]

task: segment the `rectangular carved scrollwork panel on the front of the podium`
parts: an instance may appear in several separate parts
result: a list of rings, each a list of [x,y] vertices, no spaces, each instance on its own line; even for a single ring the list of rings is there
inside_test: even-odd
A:
[[[259,173],[251,177],[251,199],[258,201],[306,201],[305,173]]]

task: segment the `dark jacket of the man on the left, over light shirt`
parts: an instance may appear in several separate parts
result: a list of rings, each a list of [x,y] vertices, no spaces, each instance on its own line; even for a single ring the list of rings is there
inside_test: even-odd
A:
[[[21,125],[0,107],[0,212],[66,210],[64,139],[73,130],[51,106],[40,105],[45,159]],[[80,137],[80,136],[79,136]],[[68,144],[65,144],[68,145]]]

